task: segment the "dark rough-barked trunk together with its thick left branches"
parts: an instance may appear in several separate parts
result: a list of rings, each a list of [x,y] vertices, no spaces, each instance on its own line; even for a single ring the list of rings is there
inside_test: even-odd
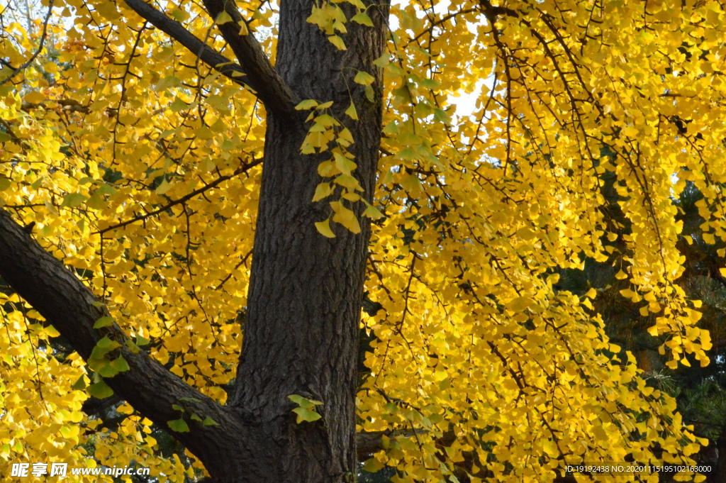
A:
[[[295,111],[299,100],[334,102],[338,119],[354,135],[355,176],[372,195],[382,107],[381,73],[373,65],[386,41],[388,0],[367,10],[374,27],[348,23],[347,50],[340,51],[317,26],[306,22],[312,0],[280,2],[276,68],[253,36],[240,36],[229,23],[221,32],[238,64],[226,63],[226,75],[250,86],[267,110],[260,206],[244,341],[236,393],[222,406],[199,394],[144,352],[117,349],[130,370],[107,380],[136,410],[168,429],[179,418],[171,407],[184,399],[187,413],[208,415],[220,426],[188,421],[179,441],[203,461],[214,483],[338,483],[357,471],[355,390],[358,325],[370,228],[362,219],[355,235],[340,227],[336,238],[319,235],[314,222],[327,217],[325,202],[312,203],[317,165],[324,155],[301,155],[307,113]],[[181,24],[142,0],[126,0],[136,13],[168,33],[181,46],[200,54],[212,67],[226,62],[218,52]],[[241,20],[233,2],[205,0],[212,18],[226,9]],[[217,67],[219,68],[219,67]],[[358,70],[375,77],[369,100],[353,82]],[[232,72],[244,73],[231,77]],[[352,97],[352,98],[351,98]],[[359,115],[345,110],[351,100]],[[360,214],[362,208],[357,208]],[[30,239],[7,212],[0,210],[0,276],[73,344],[82,357],[103,336],[123,342],[118,326],[95,330],[105,314],[94,306],[91,291],[60,261]],[[322,419],[296,424],[290,394],[324,403]]]

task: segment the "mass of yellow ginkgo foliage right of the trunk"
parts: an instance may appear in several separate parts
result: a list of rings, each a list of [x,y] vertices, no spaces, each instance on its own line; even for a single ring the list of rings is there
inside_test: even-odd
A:
[[[420,431],[392,437],[369,467],[396,466],[397,481],[465,471],[541,482],[565,461],[657,460],[655,445],[688,460],[698,441],[674,400],[609,344],[587,297],[552,283],[585,256],[611,259],[622,236],[622,295],[653,314],[669,366],[688,365],[684,354],[708,363],[698,304],[677,285],[673,200],[696,183],[704,239],[725,239],[726,105],[709,73],[723,70],[726,12],[707,1],[505,1],[492,25],[486,4],[394,6],[399,28],[379,60],[391,154],[376,198],[388,217],[367,290],[383,311],[367,321],[378,341],[359,409],[364,429]],[[478,93],[465,118],[450,104],[461,90]],[[627,231],[608,208],[606,173]]]

